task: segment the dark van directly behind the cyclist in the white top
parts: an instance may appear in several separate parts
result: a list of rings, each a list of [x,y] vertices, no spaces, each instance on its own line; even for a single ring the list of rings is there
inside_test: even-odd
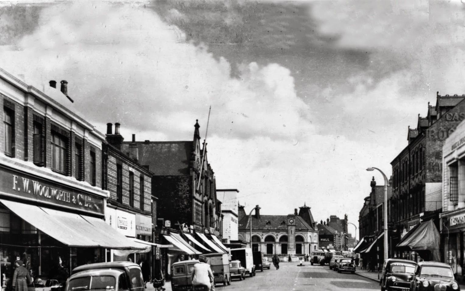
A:
[[[171,266],[171,289],[173,291],[202,290],[203,286],[192,285],[192,270],[199,260],[187,260],[173,263]]]

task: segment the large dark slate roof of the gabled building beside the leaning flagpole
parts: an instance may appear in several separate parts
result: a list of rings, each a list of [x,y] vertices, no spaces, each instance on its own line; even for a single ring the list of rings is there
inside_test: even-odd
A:
[[[129,144],[123,142],[121,151],[129,154]],[[193,141],[181,142],[136,142],[139,163],[148,165],[155,176],[190,175]]]

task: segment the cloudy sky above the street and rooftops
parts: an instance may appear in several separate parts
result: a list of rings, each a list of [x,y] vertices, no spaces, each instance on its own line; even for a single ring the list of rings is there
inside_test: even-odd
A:
[[[463,1],[463,0],[462,0]],[[465,2],[465,1],[464,1]],[[0,3],[0,67],[67,80],[100,132],[192,140],[246,212],[359,211],[439,94],[465,93],[460,0]],[[218,197],[219,200],[222,197]],[[349,226],[354,233],[355,227]]]

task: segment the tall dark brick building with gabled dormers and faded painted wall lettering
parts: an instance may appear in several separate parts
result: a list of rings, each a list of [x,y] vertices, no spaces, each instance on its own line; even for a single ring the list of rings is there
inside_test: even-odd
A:
[[[408,129],[408,145],[392,160],[392,197],[388,201],[391,256],[417,258],[408,249],[396,249],[401,239],[421,221],[434,219],[442,208],[442,149],[445,139],[465,118],[465,96],[436,96],[426,117]],[[413,257],[415,256],[415,257]]]

